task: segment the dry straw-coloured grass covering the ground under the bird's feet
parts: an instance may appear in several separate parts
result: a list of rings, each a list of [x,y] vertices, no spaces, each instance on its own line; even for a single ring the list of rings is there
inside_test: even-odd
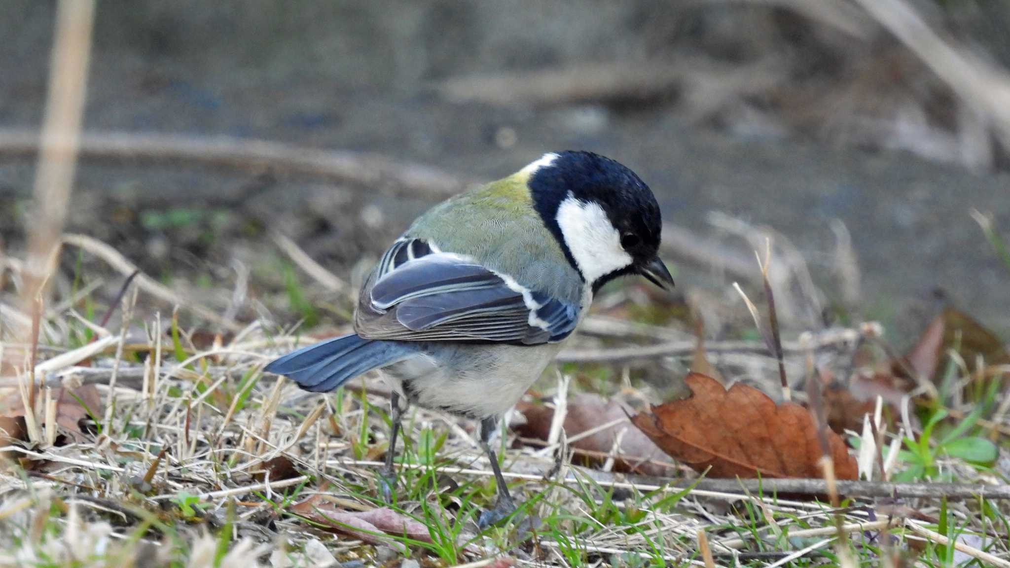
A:
[[[549,452],[517,445],[512,435],[505,444],[510,448],[506,478],[519,485],[543,526],[532,541],[520,538],[512,525],[481,535],[473,513],[491,499],[492,477],[474,442],[474,424],[419,408],[407,420],[410,450],[400,469],[404,484],[396,507],[432,527],[437,546],[334,535],[292,514],[290,505],[321,493],[345,511],[382,506],[376,473],[387,451],[388,398],[381,380],[370,375],[324,396],[263,376],[268,360],[299,341],[269,319],[243,325],[226,342],[204,339],[200,348],[193,345],[201,342],[198,335],[182,328],[177,348],[173,317],[157,315],[157,296],[133,293],[137,289],[133,284],[122,310],[104,327],[86,325],[68,309],[43,311],[42,326],[54,337],[38,352],[36,375],[45,388],[36,399],[36,431],[28,443],[0,448],[7,460],[0,476],[5,528],[0,539],[7,552],[0,555],[0,565],[61,564],[72,557],[81,566],[289,565],[284,556],[291,565],[304,566],[330,555],[354,566],[358,561],[395,564],[409,554],[429,565],[508,556],[520,564],[557,566],[601,561],[780,566],[830,558],[824,555],[831,554],[838,527],[851,533],[851,554],[864,562],[877,562],[874,539],[885,527],[897,536],[900,549],[935,550],[942,542],[933,536],[935,526],[922,526],[937,513],[929,499],[904,499],[894,508],[833,508],[808,498],[731,488],[681,491],[678,482],[586,470],[567,460],[559,470]],[[205,309],[224,311],[227,304]],[[186,320],[186,311],[180,306],[176,319]],[[611,333],[603,333],[606,321],[593,324],[606,341],[627,341],[638,337],[627,332],[641,332],[615,322]],[[137,324],[144,332],[138,333]],[[68,349],[85,326],[97,341]],[[665,337],[678,333],[668,328]],[[606,353],[600,341],[584,337],[582,349],[572,353]],[[596,347],[587,351],[591,346]],[[775,359],[745,347],[737,358],[764,360],[769,386],[777,388]],[[7,385],[9,393],[24,373],[11,359],[18,346],[8,342],[2,349],[2,361],[22,375],[14,381],[16,376],[3,373],[0,385]],[[787,360],[803,356],[786,355]],[[692,356],[686,351],[679,357]],[[81,366],[85,363],[89,366]],[[726,361],[720,366],[730,377],[734,368],[739,372]],[[553,382],[548,379],[545,388]],[[55,435],[70,433],[55,424],[52,410],[46,413],[45,400],[52,397],[45,393],[82,383],[95,385],[105,411],[86,420],[88,434],[80,441],[61,440]],[[644,388],[638,396],[648,396]],[[438,440],[441,445],[426,456],[424,444]],[[278,466],[278,458],[289,460],[295,471]],[[949,467],[966,481],[987,478],[957,461]],[[544,478],[551,471],[557,475]],[[448,478],[454,480],[449,489],[432,488],[432,480],[441,484]],[[683,487],[687,481],[679,483]],[[973,512],[969,503],[950,506],[958,511],[958,527],[969,532],[958,537],[966,554],[987,562],[1005,558],[1005,543],[992,537],[998,525]],[[889,514],[895,517],[888,519]],[[222,556],[225,552],[228,556]]]

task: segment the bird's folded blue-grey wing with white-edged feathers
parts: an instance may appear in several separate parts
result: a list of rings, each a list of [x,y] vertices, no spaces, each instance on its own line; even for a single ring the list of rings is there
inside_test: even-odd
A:
[[[372,278],[357,316],[369,339],[538,345],[567,338],[579,317],[571,302],[418,240],[394,244]]]

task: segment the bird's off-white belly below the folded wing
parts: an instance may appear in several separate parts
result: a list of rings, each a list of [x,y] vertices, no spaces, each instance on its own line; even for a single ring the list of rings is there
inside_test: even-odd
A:
[[[561,349],[560,344],[428,345],[424,353],[385,370],[391,386],[412,403],[474,418],[505,413]]]

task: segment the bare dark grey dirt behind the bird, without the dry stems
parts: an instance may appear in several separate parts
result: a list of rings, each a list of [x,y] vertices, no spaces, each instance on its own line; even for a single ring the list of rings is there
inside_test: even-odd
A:
[[[718,236],[710,212],[719,211],[781,231],[829,299],[841,294],[830,226],[840,219],[858,260],[864,310],[889,325],[919,328],[909,314],[942,289],[992,327],[1010,329],[1004,268],[969,214],[992,212],[1007,226],[1006,173],[828,145],[761,118],[698,120],[676,89],[648,100],[502,106],[454,102],[433,88],[456,77],[594,62],[698,54],[746,62],[778,49],[781,38],[767,39],[765,28],[782,29],[795,15],[648,2],[284,6],[102,2],[86,128],[372,152],[477,179],[508,174],[545,151],[589,149],[636,170],[678,226]],[[999,17],[976,14],[965,25],[981,26],[990,52],[1006,56],[1006,38],[980,23],[1005,16],[991,13]],[[741,32],[741,21],[760,29]],[[50,24],[50,3],[7,6],[0,125],[38,124]],[[804,57],[831,64],[825,55]],[[30,160],[0,156],[0,236],[14,251],[31,179]],[[427,204],[308,177],[86,159],[70,229],[110,243],[166,281],[227,281],[232,258],[256,268],[275,228],[346,274]],[[749,255],[742,242],[729,243]],[[678,281],[691,286],[721,291],[732,280],[671,260]],[[268,279],[273,266],[261,267]]]

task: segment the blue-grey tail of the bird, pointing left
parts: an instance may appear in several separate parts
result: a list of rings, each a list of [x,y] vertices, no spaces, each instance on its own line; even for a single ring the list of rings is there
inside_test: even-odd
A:
[[[305,390],[326,392],[358,375],[408,359],[415,352],[410,344],[350,334],[275,359],[264,371],[285,375]]]

